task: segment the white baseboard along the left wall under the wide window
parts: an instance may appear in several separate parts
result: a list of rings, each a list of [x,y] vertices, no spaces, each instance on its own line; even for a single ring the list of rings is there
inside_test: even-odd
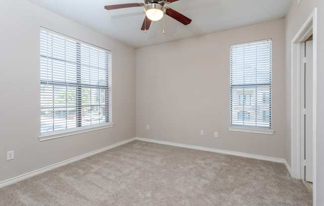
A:
[[[89,152],[89,153],[86,153],[86,154],[81,154],[81,155],[73,157],[71,159],[67,159],[67,160],[64,160],[64,161],[61,161],[61,162],[58,162],[58,163],[55,163],[55,164],[52,164],[52,165],[49,165],[49,166],[34,170],[34,171],[31,171],[31,172],[28,172],[28,173],[25,173],[25,174],[19,175],[19,176],[4,180],[4,181],[0,182],[0,188],[11,185],[11,184],[14,184],[14,183],[17,183],[17,182],[25,180],[25,179],[28,179],[30,177],[33,177],[35,175],[47,172],[49,170],[64,166],[66,164],[70,164],[70,163],[78,161],[80,159],[84,159],[84,158],[92,156],[94,154],[102,153],[104,151],[107,151],[107,150],[113,149],[115,147],[124,145],[126,143],[132,142],[135,139],[136,138],[131,138],[131,139],[128,139],[128,140],[124,140],[122,142],[115,143],[113,145],[110,145],[110,146],[107,146],[107,147],[104,147],[104,148],[101,148],[101,149],[98,149],[98,150],[95,150],[95,151],[92,151],[92,152]]]

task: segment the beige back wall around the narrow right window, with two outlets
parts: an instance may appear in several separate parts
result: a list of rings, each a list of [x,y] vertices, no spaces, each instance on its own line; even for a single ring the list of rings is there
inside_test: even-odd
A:
[[[269,38],[275,133],[228,131],[230,45]],[[137,49],[136,135],[286,158],[285,79],[284,19]],[[199,130],[205,134],[199,135]]]

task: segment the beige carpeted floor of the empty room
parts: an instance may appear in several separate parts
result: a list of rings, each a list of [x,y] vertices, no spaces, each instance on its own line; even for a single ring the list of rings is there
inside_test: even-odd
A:
[[[0,189],[0,206],[311,206],[284,164],[134,141]]]

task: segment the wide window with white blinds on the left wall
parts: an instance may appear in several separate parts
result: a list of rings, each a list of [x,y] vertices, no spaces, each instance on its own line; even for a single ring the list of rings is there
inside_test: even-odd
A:
[[[111,52],[40,30],[41,136],[111,124]]]

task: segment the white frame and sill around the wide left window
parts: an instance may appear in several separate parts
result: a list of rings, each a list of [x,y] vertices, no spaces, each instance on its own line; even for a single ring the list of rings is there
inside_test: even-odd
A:
[[[81,126],[81,127],[75,127],[75,128],[69,128],[69,129],[62,129],[62,130],[57,130],[57,131],[49,131],[49,132],[41,132],[41,130],[39,130],[39,141],[46,141],[46,140],[51,140],[51,139],[56,139],[56,138],[61,138],[61,137],[66,137],[66,136],[71,136],[71,135],[76,135],[76,134],[81,134],[81,133],[85,133],[85,132],[90,132],[90,131],[95,131],[95,130],[101,130],[101,129],[106,129],[106,128],[111,128],[113,127],[115,124],[113,123],[112,121],[112,93],[113,93],[113,69],[112,69],[112,58],[113,58],[113,55],[112,55],[112,51],[110,50],[107,50],[107,49],[104,49],[104,48],[101,48],[101,47],[98,47],[98,46],[95,46],[95,45],[92,45],[92,44],[89,44],[87,42],[84,42],[84,41],[81,41],[77,38],[73,38],[73,37],[70,37],[68,35],[65,35],[65,34],[62,34],[62,33],[59,33],[59,32],[55,32],[53,30],[50,30],[50,29],[47,29],[45,27],[40,27],[40,32],[41,31],[47,31],[47,32],[50,32],[52,34],[56,34],[56,35],[59,35],[59,36],[62,36],[66,39],[69,39],[69,40],[72,40],[72,41],[75,41],[77,42],[78,44],[83,44],[83,45],[86,45],[86,46],[89,46],[89,47],[92,47],[92,48],[97,48],[97,49],[100,49],[100,50],[104,50],[104,51],[107,51],[110,55],[110,82],[108,82],[108,86],[107,86],[107,89],[108,89],[108,119],[109,119],[109,122],[104,122],[104,123],[98,123],[98,124],[93,124],[93,125],[85,125],[85,126]],[[39,48],[40,48],[40,36],[39,36]],[[40,61],[40,58],[41,58],[41,55],[40,55],[40,51],[39,51],[39,74],[41,74],[40,72],[40,69],[41,69],[41,61]],[[41,84],[42,84],[42,80],[40,79],[39,81],[39,86],[41,87]],[[109,84],[110,83],[110,84]],[[82,87],[81,87],[82,88]],[[89,88],[93,88],[93,87],[89,87]],[[41,91],[41,88],[40,90]],[[41,95],[41,92],[40,94]],[[41,101],[39,101],[39,103],[41,103]],[[41,105],[39,104],[39,116],[41,116]],[[41,119],[39,119],[39,121],[41,121]],[[40,125],[40,124],[39,124]],[[40,128],[41,129],[41,128]]]

